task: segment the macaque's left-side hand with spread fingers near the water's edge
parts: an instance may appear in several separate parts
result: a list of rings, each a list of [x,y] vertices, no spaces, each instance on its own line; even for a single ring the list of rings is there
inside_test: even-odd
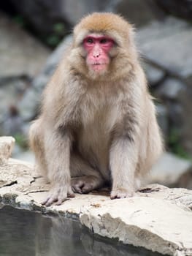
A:
[[[42,201],[42,205],[50,206],[55,203],[56,206],[60,206],[67,197],[74,197],[71,186],[66,187],[64,184],[58,184],[50,190],[48,197]]]

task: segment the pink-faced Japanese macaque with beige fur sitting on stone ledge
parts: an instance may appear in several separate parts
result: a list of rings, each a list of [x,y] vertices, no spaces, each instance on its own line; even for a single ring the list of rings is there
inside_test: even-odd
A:
[[[155,106],[139,64],[131,25],[93,13],[74,27],[42,99],[30,142],[51,184],[43,204],[111,185],[131,197],[162,151]]]

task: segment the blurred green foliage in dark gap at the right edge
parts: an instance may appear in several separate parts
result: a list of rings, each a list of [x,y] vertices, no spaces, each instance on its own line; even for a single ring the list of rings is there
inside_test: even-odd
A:
[[[183,157],[185,159],[191,159],[188,152],[185,151],[180,143],[180,130],[177,128],[172,128],[169,133],[169,138],[167,141],[169,149],[176,154],[178,157]]]

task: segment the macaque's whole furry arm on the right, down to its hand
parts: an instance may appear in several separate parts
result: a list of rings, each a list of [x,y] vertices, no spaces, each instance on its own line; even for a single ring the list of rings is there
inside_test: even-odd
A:
[[[137,94],[137,96],[139,93]],[[116,124],[110,148],[112,173],[111,198],[130,197],[135,191],[135,173],[139,159],[141,106],[136,101],[122,102],[122,116]]]

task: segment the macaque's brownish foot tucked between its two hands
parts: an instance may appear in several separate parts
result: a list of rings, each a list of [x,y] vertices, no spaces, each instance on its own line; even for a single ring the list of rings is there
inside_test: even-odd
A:
[[[81,176],[71,179],[72,190],[80,194],[91,192],[103,185],[101,178],[95,176]]]

